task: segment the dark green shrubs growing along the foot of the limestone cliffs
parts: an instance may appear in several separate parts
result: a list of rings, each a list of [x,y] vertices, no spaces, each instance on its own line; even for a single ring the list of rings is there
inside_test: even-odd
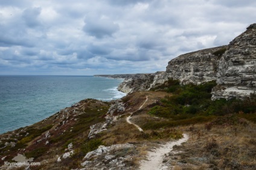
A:
[[[179,80],[168,80],[165,84],[153,90],[165,90],[172,95],[165,96],[148,112],[149,115],[165,118],[165,121],[147,122],[142,128],[155,129],[196,124],[211,121],[217,116],[236,113],[245,113],[238,116],[255,122],[255,94],[243,101],[239,99],[212,101],[211,89],[214,86],[216,86],[215,81],[200,85],[187,84],[182,86]]]

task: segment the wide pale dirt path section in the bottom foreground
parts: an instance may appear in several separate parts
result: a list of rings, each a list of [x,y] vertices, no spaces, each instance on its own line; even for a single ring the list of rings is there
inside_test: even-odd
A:
[[[188,140],[188,135],[183,134],[183,138],[167,142],[165,145],[161,145],[159,148],[156,148],[154,151],[150,151],[147,160],[141,161],[140,170],[157,170],[157,169],[170,169],[168,166],[164,166],[162,161],[164,159],[164,155],[170,153],[173,150],[174,145],[181,145],[181,143],[186,142]]]

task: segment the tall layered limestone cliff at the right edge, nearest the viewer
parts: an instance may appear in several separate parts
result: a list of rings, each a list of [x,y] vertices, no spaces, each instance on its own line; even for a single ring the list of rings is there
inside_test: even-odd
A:
[[[212,99],[244,98],[256,92],[256,24],[229,43],[219,60]]]

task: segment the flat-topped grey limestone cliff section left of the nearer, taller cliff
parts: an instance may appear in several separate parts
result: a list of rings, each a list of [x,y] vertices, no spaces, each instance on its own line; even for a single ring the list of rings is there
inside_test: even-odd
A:
[[[167,76],[180,80],[182,84],[216,80],[219,56],[214,52],[226,47],[219,46],[179,55],[168,62]]]

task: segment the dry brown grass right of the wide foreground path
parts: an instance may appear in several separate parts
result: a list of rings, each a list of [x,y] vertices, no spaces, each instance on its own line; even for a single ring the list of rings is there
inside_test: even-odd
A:
[[[255,169],[255,129],[252,123],[232,127],[224,123],[211,130],[194,125],[193,130],[186,132],[190,139],[174,147],[179,153],[171,154],[168,161],[171,159],[171,165],[181,169]]]

